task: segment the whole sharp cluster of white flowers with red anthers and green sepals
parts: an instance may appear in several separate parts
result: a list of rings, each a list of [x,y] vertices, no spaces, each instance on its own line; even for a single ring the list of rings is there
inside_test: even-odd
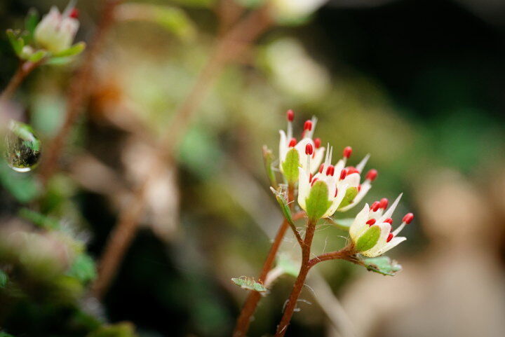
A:
[[[294,118],[295,114],[289,110],[288,130],[280,131],[279,170],[288,184],[298,184],[299,207],[307,213],[309,219],[317,221],[356,206],[370,191],[372,181],[377,178],[377,170],[372,169],[364,174],[362,180],[362,172],[370,155],[365,156],[356,166],[350,166],[347,162],[352,149],[346,146],[342,158],[332,163],[332,146],[328,144],[325,148],[321,146],[321,139],[313,138],[317,119],[312,118],[304,123],[302,136],[297,140],[293,137],[292,130]],[[400,197],[387,210],[389,202],[383,198],[370,207],[365,205],[359,212],[349,228],[355,252],[369,257],[379,256],[406,240],[397,235],[412,221],[414,216],[411,213],[391,232],[391,215]]]

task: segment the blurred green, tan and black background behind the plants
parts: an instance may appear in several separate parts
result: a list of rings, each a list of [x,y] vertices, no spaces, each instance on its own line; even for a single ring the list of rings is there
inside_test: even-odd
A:
[[[102,2],[79,1],[76,41],[102,29]],[[261,149],[277,153],[293,109],[295,132],[315,115],[323,144],[353,146],[354,164],[371,153],[379,177],[365,202],[403,192],[394,220],[416,219],[389,254],[403,266],[394,277],[314,268],[288,336],[505,336],[505,3],[274,3],[234,43],[227,32],[262,1],[116,6],[51,174],[45,156],[89,48],[27,77],[0,123],[31,125],[41,164],[0,164],[0,330],[231,336],[247,291],[230,279],[257,277],[282,221]],[[0,0],[0,29],[53,5],[67,3]],[[3,89],[18,67],[5,34],[0,60]],[[97,291],[118,224],[131,240]],[[342,235],[321,226],[314,252],[342,247]],[[295,245],[288,235],[281,247],[293,263]],[[273,333],[294,280],[274,284],[248,336]]]

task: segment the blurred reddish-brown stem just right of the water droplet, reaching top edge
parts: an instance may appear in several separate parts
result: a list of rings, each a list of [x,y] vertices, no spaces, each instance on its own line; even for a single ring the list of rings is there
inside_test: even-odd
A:
[[[43,182],[46,182],[53,174],[55,167],[58,165],[58,158],[62,152],[67,137],[69,136],[72,126],[74,125],[83,104],[89,97],[90,83],[93,79],[93,65],[102,44],[104,43],[105,36],[114,22],[114,8],[121,4],[123,0],[103,0],[105,1],[102,11],[102,18],[98,23],[93,41],[90,43],[90,48],[84,57],[83,64],[80,67],[74,81],[70,83],[67,111],[65,114],[65,121],[60,128],[58,134],[54,137],[53,141],[48,146],[47,155],[43,158],[40,167],[40,175]]]

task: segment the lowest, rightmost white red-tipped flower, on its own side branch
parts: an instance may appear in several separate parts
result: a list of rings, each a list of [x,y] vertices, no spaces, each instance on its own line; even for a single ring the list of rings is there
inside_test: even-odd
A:
[[[358,213],[356,219],[349,228],[349,235],[351,236],[351,240],[353,245],[356,247],[358,240],[363,238],[365,235],[370,234],[371,228],[378,228],[376,230],[379,235],[378,238],[375,238],[377,241],[372,240],[372,247],[366,249],[363,252],[359,252],[364,256],[375,257],[384,254],[389,251],[396,245],[400,244],[407,240],[407,238],[398,237],[398,233],[405,227],[406,224],[410,223],[412,219],[414,219],[414,214],[409,213],[403,217],[403,221],[395,231],[391,232],[391,224],[393,220],[391,219],[391,215],[394,212],[394,209],[398,205],[400,201],[401,194],[396,198],[393,205],[389,207],[387,211],[384,212],[387,207],[387,200],[382,199],[380,202],[374,202],[372,207],[368,207],[368,204],[363,207],[361,212]],[[384,202],[385,200],[385,202]],[[372,237],[372,235],[368,235]]]

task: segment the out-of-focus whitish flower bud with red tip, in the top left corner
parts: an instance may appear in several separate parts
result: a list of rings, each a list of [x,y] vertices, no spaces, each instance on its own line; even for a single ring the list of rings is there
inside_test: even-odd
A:
[[[35,42],[51,53],[60,53],[72,46],[79,29],[76,8],[71,4],[64,13],[53,6],[35,28]]]

